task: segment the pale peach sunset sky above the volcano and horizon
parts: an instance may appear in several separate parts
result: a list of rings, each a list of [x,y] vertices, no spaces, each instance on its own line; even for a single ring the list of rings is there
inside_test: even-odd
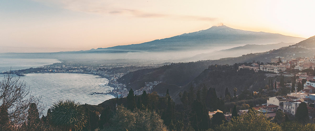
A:
[[[211,26],[315,35],[315,1],[2,0],[0,53],[138,44]]]

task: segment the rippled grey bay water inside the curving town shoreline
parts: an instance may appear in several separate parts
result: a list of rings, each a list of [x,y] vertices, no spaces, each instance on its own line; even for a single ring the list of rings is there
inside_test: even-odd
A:
[[[20,77],[20,81],[24,81],[26,86],[30,87],[32,96],[42,97],[47,112],[54,102],[60,100],[71,99],[81,104],[98,105],[114,98],[112,95],[90,95],[93,92],[106,92],[113,89],[104,86],[108,83],[108,79],[97,77],[99,76],[92,74],[32,73]],[[3,75],[0,79],[3,79]]]

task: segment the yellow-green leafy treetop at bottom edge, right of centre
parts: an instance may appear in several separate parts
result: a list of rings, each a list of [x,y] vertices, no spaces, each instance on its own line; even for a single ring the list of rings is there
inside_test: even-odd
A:
[[[281,127],[270,122],[265,114],[255,109],[249,109],[248,113],[241,115],[238,119],[221,124],[215,128],[216,131],[281,131]]]

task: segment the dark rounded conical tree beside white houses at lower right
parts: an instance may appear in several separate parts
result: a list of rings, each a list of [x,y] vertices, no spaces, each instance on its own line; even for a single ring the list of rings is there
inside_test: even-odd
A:
[[[296,109],[295,119],[301,123],[309,122],[308,109],[305,102],[302,102]]]

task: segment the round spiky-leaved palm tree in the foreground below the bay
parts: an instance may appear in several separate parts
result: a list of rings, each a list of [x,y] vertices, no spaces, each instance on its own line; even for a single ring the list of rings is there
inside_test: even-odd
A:
[[[80,103],[75,103],[72,100],[59,101],[54,103],[50,113],[50,123],[57,128],[65,131],[77,131],[87,123],[87,116],[80,106]]]

